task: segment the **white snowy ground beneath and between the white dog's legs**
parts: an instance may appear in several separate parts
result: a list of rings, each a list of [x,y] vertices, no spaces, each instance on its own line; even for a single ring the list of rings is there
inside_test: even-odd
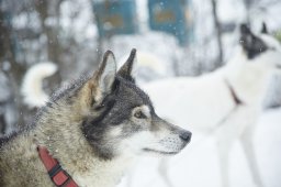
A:
[[[281,109],[267,110],[259,118],[255,145],[266,187],[281,184]],[[180,154],[170,158],[169,178],[173,187],[220,187],[221,174],[214,139],[193,132],[193,140]],[[161,179],[158,158],[144,158],[119,187],[167,187]],[[255,187],[244,152],[236,142],[231,153],[232,187]]]

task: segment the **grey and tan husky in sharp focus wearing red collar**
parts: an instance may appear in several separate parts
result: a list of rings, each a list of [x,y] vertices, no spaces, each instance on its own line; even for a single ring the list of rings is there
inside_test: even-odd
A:
[[[135,55],[116,73],[108,51],[92,76],[55,94],[31,125],[2,139],[0,186],[59,186],[57,168],[44,167],[42,147],[64,168],[64,183],[83,187],[115,186],[136,155],[179,153],[191,133],[155,113],[132,76]]]

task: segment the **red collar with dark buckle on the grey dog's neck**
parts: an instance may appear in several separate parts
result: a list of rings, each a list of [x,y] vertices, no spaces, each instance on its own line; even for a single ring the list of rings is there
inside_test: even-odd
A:
[[[49,178],[58,187],[78,187],[70,175],[61,168],[58,161],[48,154],[44,146],[37,147],[40,158],[48,170]]]

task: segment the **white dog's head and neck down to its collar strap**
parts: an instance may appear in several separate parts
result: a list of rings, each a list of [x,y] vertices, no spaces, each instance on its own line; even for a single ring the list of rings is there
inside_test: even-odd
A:
[[[281,46],[265,28],[254,34],[241,24],[238,53],[227,64],[227,79],[247,103],[260,103],[272,75],[281,75]]]

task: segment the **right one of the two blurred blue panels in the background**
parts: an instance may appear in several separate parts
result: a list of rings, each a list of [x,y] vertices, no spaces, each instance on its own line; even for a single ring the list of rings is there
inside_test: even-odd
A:
[[[187,0],[148,0],[149,26],[173,34],[181,45],[188,43]]]

